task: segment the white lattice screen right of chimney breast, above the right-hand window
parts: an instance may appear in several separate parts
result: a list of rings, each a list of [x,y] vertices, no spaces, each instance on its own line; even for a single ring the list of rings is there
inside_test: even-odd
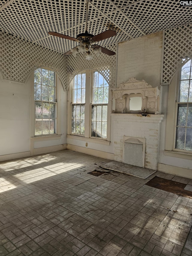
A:
[[[165,31],[162,83],[169,84],[180,66],[192,58],[191,42],[192,24]]]

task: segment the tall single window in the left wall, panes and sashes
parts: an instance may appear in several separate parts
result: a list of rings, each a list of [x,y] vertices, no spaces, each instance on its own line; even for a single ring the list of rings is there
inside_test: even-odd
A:
[[[56,134],[55,73],[38,68],[34,72],[35,135]]]

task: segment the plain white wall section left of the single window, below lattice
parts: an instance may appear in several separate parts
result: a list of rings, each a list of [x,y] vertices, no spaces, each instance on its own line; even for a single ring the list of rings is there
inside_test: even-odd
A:
[[[29,152],[29,81],[0,78],[0,155]]]

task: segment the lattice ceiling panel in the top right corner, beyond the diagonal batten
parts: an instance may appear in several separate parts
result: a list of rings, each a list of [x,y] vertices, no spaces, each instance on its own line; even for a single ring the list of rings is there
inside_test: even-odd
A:
[[[181,7],[179,1],[143,1],[122,11],[145,34],[192,22],[190,7]]]

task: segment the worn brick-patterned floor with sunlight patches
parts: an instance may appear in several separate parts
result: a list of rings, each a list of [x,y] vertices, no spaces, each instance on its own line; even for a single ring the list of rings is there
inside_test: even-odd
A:
[[[0,255],[191,256],[192,199],[63,150],[0,162]]]

